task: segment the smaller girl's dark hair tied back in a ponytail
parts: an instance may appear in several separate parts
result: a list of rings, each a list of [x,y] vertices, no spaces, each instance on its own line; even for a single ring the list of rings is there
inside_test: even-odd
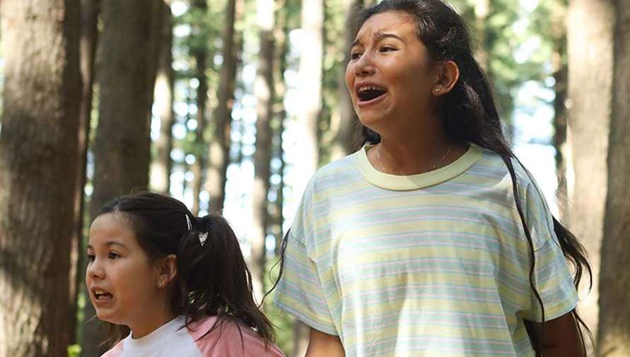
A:
[[[129,219],[139,245],[153,261],[177,256],[170,308],[185,316],[186,327],[202,317],[218,317],[205,336],[233,318],[254,329],[265,346],[272,343],[272,324],[254,301],[252,274],[225,218],[194,217],[177,199],[152,192],[118,197],[94,218],[113,212]],[[203,244],[200,237],[205,238]],[[129,334],[123,325],[105,322],[105,327],[109,332],[105,343],[110,346]]]

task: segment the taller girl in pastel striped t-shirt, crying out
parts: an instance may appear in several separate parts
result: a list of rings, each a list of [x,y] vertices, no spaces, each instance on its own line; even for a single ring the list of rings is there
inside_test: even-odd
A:
[[[583,356],[566,264],[590,269],[501,133],[440,0],[366,10],[346,86],[367,145],[318,170],[276,304],[307,356]]]

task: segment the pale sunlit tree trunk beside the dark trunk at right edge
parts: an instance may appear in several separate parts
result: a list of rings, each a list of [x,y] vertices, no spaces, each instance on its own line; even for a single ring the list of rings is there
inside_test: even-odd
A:
[[[613,23],[609,1],[571,1],[567,33],[567,141],[573,172],[567,177],[567,186],[573,204],[568,206],[567,221],[571,231],[583,241],[592,262],[593,290],[581,301],[580,310],[593,332],[597,329],[600,245],[607,192]]]

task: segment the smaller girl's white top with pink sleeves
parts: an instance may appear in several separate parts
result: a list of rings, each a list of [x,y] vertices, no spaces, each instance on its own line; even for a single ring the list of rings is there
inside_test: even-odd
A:
[[[284,353],[272,344],[264,348],[264,342],[250,327],[226,320],[221,327],[207,334],[216,317],[206,317],[192,324],[191,329],[184,326],[184,317],[163,324],[161,327],[139,339],[132,339],[129,334],[103,357],[282,357]],[[240,333],[239,333],[240,327]],[[243,336],[243,340],[241,340]]]

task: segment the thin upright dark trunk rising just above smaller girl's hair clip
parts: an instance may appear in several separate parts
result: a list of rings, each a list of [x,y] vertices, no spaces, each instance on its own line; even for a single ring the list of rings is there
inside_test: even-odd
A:
[[[202,192],[203,172],[206,162],[204,131],[206,130],[206,102],[208,98],[208,81],[206,80],[206,57],[208,57],[208,49],[205,41],[205,21],[208,5],[206,0],[196,0],[193,6],[197,8],[203,16],[199,19],[199,23],[194,24],[194,35],[199,37],[196,46],[192,49],[194,62],[197,64],[197,129],[195,129],[194,137],[194,163],[192,164],[192,213],[197,216],[199,214],[199,197]]]

